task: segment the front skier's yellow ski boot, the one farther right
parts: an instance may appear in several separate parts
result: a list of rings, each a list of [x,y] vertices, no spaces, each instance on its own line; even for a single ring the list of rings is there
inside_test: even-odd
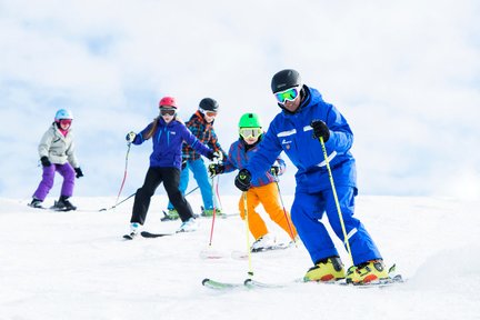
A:
[[[388,279],[388,270],[382,259],[370,260],[358,266],[352,266],[347,272],[347,283],[364,284]]]

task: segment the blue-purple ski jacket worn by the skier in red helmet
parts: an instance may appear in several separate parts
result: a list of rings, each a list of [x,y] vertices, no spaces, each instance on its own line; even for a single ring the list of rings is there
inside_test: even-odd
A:
[[[174,167],[181,170],[183,142],[202,156],[207,157],[213,152],[202,144],[183,123],[177,119],[167,123],[161,117],[138,133],[132,143],[143,143],[147,140],[144,137],[147,137],[156,121],[158,121],[157,128],[151,137],[153,152],[150,154],[150,167]]]

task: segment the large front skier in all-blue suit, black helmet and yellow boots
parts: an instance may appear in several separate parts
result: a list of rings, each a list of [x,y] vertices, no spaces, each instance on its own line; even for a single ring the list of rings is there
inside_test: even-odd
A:
[[[306,281],[367,283],[388,278],[382,257],[359,219],[353,217],[358,193],[354,158],[350,153],[353,133],[343,116],[323,101],[317,89],[302,83],[299,72],[287,69],[276,73],[271,89],[282,111],[276,116],[257,153],[236,177],[236,186],[247,191],[251,181],[268,170],[281,151],[298,168],[291,218],[314,266]],[[334,201],[320,138],[328,152],[339,207],[348,239]],[[327,212],[337,237],[348,241],[353,264],[346,274],[338,251],[320,219]]]

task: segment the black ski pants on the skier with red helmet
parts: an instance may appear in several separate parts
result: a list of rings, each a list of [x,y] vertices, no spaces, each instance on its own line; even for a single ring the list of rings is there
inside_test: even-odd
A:
[[[190,203],[179,190],[180,170],[177,168],[150,167],[143,186],[137,190],[130,222],[144,223],[151,197],[161,182],[163,182],[169,200],[177,209],[180,219],[187,221],[193,217]]]

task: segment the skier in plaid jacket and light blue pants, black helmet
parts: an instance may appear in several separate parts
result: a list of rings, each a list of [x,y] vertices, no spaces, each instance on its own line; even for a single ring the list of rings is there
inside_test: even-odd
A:
[[[200,142],[209,146],[217,152],[226,154],[220,143],[218,142],[217,134],[213,129],[213,122],[218,114],[219,103],[212,98],[204,98],[200,101],[198,110],[191,116],[187,122],[187,128],[200,140]],[[204,166],[201,154],[196,151],[192,147],[183,144],[182,149],[182,170],[180,173],[180,191],[184,194],[188,183],[190,171],[193,173],[193,178],[200,188],[200,192],[203,200],[203,212],[202,216],[211,217],[213,214],[213,207],[216,207],[216,213],[221,212],[221,208],[217,203],[213,203],[212,186],[209,182],[207,168]],[[216,198],[217,200],[217,198]],[[168,219],[178,219],[178,212],[173,208],[173,204],[168,204]]]

